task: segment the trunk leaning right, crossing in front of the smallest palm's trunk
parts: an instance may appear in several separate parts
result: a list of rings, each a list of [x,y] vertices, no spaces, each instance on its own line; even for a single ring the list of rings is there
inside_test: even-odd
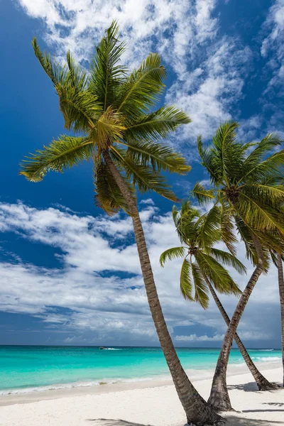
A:
[[[229,411],[231,408],[231,401],[229,398],[228,389],[226,387],[226,370],[229,362],[229,354],[231,351],[231,345],[234,342],[234,337],[236,334],[236,329],[238,328],[239,322],[241,320],[241,315],[244,312],[247,302],[253,288],[255,287],[258,278],[263,272],[263,250],[259,239],[253,235],[253,243],[256,247],[258,253],[258,264],[249,279],[249,283],[246,285],[243,294],[239,299],[238,305],[236,305],[236,310],[234,315],[231,317],[231,322],[226,331],[222,348],[219,354],[217,361],[217,366],[214,373],[214,378],[212,382],[211,393],[209,396],[208,403],[217,411]],[[275,385],[275,388],[278,387]]]

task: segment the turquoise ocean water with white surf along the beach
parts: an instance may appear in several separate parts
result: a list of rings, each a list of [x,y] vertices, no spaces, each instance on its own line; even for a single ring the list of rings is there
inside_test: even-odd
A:
[[[214,368],[219,349],[179,348],[186,370]],[[278,349],[251,349],[253,361],[281,359]],[[244,364],[232,349],[231,364]],[[160,348],[86,346],[0,346],[0,394],[94,386],[168,376]]]

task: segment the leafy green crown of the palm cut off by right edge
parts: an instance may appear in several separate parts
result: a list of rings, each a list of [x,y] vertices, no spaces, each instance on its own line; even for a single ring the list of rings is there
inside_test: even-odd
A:
[[[280,209],[284,202],[281,175],[284,150],[279,149],[283,142],[268,133],[258,143],[241,143],[236,141],[237,128],[236,122],[222,124],[206,148],[202,138],[198,138],[201,163],[209,173],[213,188],[206,190],[197,182],[192,195],[200,203],[215,203],[214,214],[219,215],[222,239],[228,249],[234,253],[236,226],[246,244],[248,257],[256,264],[252,235],[257,236],[263,246],[277,251],[278,232],[284,231]]]

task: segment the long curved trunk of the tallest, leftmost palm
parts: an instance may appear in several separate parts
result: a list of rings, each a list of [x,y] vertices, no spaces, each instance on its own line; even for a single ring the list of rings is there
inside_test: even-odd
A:
[[[120,175],[119,170],[116,169],[116,166],[112,162],[109,153],[104,151],[103,155],[109,171],[113,175],[116,184],[119,186],[119,190],[121,190],[121,194],[124,196],[124,199],[129,206],[129,211],[131,212],[138,256],[148,297],[148,304],[155,324],[155,329],[160,340],[160,346],[163,349],[168,368],[170,369],[170,373],[173,377],[175,389],[187,416],[187,422],[198,426],[217,425],[222,418],[207,404],[187,378],[187,375],[180,364],[180,360],[178,359],[178,355],[176,354],[167,325],[165,324],[158,293],[155,288],[153,271],[151,268],[150,258],[148,256],[145,236],[136,202],[133,200],[131,192]]]

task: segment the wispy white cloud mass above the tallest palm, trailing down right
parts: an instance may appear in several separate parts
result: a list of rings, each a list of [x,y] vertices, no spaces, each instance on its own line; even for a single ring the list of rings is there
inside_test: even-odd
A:
[[[23,10],[42,22],[40,36],[62,57],[70,49],[83,65],[113,19],[129,49],[124,60],[137,66],[151,51],[158,51],[177,81],[167,102],[178,104],[192,118],[180,138],[204,138],[221,121],[236,118],[232,107],[242,97],[251,51],[239,40],[220,35],[213,16],[216,0],[18,0]]]

